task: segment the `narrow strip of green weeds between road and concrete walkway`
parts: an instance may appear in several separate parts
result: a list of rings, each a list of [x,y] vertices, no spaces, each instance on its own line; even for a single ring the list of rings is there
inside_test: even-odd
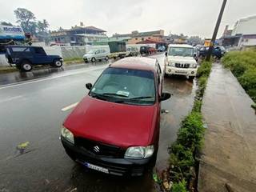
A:
[[[202,97],[206,90],[212,63],[202,62],[198,68],[198,90],[190,114],[183,119],[178,129],[177,140],[170,146],[170,180],[172,191],[186,191],[194,179],[195,156],[202,149],[205,128],[202,122]],[[192,183],[194,185],[194,183]]]

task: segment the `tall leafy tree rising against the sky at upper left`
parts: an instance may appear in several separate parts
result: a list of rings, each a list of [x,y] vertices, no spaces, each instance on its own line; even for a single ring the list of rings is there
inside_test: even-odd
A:
[[[36,18],[30,10],[18,8],[14,10],[14,14],[17,18],[17,22],[26,33],[36,34],[37,22],[35,22]]]

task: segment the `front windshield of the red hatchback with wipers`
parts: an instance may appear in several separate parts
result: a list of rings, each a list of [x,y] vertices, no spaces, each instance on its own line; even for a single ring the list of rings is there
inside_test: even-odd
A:
[[[155,102],[154,73],[107,68],[92,87],[90,96],[109,102],[152,105]]]

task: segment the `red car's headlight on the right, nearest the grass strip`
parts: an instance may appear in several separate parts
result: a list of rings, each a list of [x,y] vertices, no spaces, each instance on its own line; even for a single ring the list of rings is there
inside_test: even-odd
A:
[[[154,154],[154,146],[131,146],[126,150],[125,158],[150,158]]]

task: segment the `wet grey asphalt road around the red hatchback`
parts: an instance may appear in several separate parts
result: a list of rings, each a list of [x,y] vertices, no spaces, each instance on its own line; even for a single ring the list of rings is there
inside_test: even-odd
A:
[[[152,56],[163,65],[163,54]],[[155,191],[151,174],[117,178],[74,163],[63,150],[59,131],[70,110],[88,92],[109,63],[43,69],[27,74],[0,74],[0,191]],[[26,81],[24,81],[26,80]],[[168,162],[167,147],[192,108],[195,86],[186,78],[165,78],[157,170]],[[17,146],[30,142],[24,154]]]

